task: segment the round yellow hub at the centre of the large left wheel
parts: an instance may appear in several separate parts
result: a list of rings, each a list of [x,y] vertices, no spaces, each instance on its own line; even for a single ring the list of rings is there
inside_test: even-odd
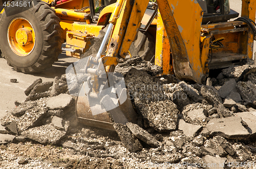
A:
[[[32,30],[27,27],[17,30],[15,35],[16,41],[19,45],[28,45],[32,41]]]

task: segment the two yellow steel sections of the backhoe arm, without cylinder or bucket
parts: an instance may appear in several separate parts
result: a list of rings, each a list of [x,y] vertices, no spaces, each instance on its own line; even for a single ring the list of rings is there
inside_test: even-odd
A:
[[[148,1],[124,2],[114,27],[107,55],[124,58],[140,28]],[[202,9],[197,1],[157,0],[173,55],[174,71],[180,79],[202,83],[206,79],[207,57],[201,55]],[[131,9],[131,12],[129,9]],[[184,12],[186,11],[186,12]],[[128,24],[127,20],[129,20]]]

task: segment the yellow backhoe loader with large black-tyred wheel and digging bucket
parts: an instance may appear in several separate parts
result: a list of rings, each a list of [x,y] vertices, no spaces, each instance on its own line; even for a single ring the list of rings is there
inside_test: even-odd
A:
[[[239,14],[229,8],[228,0],[157,0],[150,4],[148,0],[18,0],[3,1],[3,5],[2,55],[15,70],[25,73],[50,67],[63,40],[67,55],[79,58],[108,25],[98,53],[84,65],[84,73],[91,75],[82,83],[76,102],[78,119],[91,126],[113,129],[113,119],[136,119],[123,82],[115,83],[111,72],[121,58],[131,55],[130,46],[139,46],[138,53],[145,49],[139,32],[155,38],[154,63],[163,68],[163,74],[200,84],[210,69],[237,65],[253,55],[255,0],[243,0],[242,17],[234,21],[228,20]],[[116,98],[111,99],[116,106],[102,108],[102,98],[110,91],[114,91]]]

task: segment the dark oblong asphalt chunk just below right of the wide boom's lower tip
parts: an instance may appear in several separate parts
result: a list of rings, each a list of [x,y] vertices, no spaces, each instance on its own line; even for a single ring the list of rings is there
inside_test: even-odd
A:
[[[212,86],[203,86],[201,93],[203,97],[214,106],[223,103],[218,91]]]

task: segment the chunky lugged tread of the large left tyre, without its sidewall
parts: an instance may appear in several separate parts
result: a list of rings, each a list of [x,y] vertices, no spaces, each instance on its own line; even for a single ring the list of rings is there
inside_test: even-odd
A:
[[[33,8],[29,10],[38,18],[39,24],[42,27],[43,47],[40,56],[37,61],[29,67],[17,67],[8,61],[2,53],[2,57],[7,60],[8,65],[12,66],[14,70],[24,73],[43,71],[52,67],[52,64],[58,61],[58,55],[61,53],[61,44],[63,43],[63,39],[61,38],[63,30],[59,25],[60,19],[55,15],[55,10],[42,1],[29,2],[31,2],[31,6],[33,6]]]

